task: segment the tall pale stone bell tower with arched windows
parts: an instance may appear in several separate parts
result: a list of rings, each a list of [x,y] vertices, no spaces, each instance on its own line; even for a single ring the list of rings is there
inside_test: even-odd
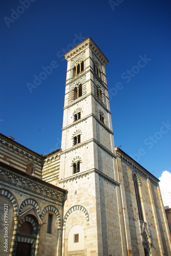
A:
[[[105,66],[88,37],[67,60],[59,186],[64,206],[62,255],[114,255],[123,250],[118,178]],[[115,234],[117,230],[117,234]],[[116,239],[117,237],[117,239]]]

